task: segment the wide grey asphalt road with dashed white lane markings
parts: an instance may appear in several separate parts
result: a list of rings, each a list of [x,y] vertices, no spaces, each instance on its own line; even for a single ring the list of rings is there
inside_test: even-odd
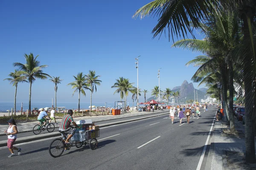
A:
[[[195,170],[215,111],[202,112],[190,124],[183,119],[181,126],[178,119],[172,124],[168,115],[163,115],[103,127],[96,150],[90,150],[88,145],[80,149],[72,147],[59,158],[52,158],[48,152],[53,138],[18,144],[22,154],[11,158],[7,157],[9,150],[2,147],[0,167],[5,170]]]

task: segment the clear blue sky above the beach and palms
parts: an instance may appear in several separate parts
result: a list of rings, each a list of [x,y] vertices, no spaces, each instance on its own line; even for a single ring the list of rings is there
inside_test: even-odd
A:
[[[93,103],[114,102],[111,86],[119,77],[129,78],[137,86],[135,58],[139,58],[139,88],[150,91],[160,87],[180,86],[184,80],[191,82],[197,68],[185,63],[200,53],[171,48],[172,42],[162,35],[152,39],[152,29],[157,18],[136,20],[134,12],[150,0],[22,0],[0,1],[0,80],[14,71],[14,62],[25,63],[23,55],[39,55],[41,65],[49,65],[44,72],[60,76],[58,102],[78,102],[78,93],[67,86],[78,72],[87,74],[95,70],[101,75],[101,86],[93,93]],[[197,38],[201,38],[199,35]],[[177,40],[175,38],[175,40]],[[194,84],[198,88],[198,84]],[[204,86],[200,86],[204,87]],[[199,88],[200,88],[199,87]],[[0,84],[0,102],[13,102],[15,87],[8,81]],[[90,102],[90,92],[81,96],[81,103]],[[28,102],[29,84],[19,84],[17,102]],[[32,102],[51,102],[54,84],[49,80],[36,80],[32,84]],[[128,95],[131,102],[131,94]],[[144,101],[143,95],[139,101]]]

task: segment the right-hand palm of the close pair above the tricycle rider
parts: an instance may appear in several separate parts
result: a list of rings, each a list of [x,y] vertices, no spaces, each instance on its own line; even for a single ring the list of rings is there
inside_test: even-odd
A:
[[[89,74],[85,75],[86,80],[87,80],[87,84],[90,85],[90,115],[91,115],[91,110],[92,110],[92,94],[93,91],[95,89],[95,92],[97,92],[97,86],[96,85],[100,85],[100,83],[102,82],[101,80],[98,80],[98,78],[100,77],[100,75],[96,76],[96,72],[95,71],[91,71],[89,70]]]

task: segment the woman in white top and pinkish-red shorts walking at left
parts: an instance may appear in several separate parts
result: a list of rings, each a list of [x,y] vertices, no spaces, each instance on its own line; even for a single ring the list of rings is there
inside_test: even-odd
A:
[[[11,155],[8,156],[10,158],[12,156],[15,156],[15,153],[13,153],[13,150],[17,150],[18,155],[20,155],[21,148],[18,149],[17,147],[13,147],[13,144],[16,141],[17,133],[18,133],[15,120],[13,118],[11,118],[7,122],[9,124],[9,128],[8,128],[8,130],[5,130],[4,133],[7,133],[6,135],[8,135],[7,147],[9,148],[9,151],[11,152]]]

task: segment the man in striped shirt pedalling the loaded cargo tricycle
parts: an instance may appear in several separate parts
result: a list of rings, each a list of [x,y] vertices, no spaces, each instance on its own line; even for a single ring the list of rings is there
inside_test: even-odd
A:
[[[59,131],[70,134],[67,136],[67,140],[65,141],[66,144],[70,144],[69,140],[75,134],[75,130],[72,127],[70,127],[70,124],[72,123],[75,127],[79,128],[79,126],[76,124],[76,122],[74,122],[72,115],[73,115],[73,111],[68,110],[67,115],[65,115],[62,118],[60,126],[59,126]]]

